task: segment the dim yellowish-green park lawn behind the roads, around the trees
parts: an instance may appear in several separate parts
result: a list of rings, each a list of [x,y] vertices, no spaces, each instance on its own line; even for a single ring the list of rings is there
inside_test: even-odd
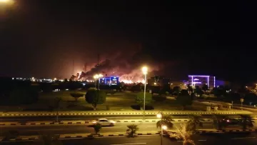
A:
[[[11,111],[49,111],[49,106],[53,106],[54,98],[61,97],[60,111],[89,111],[93,110],[91,104],[88,104],[85,97],[80,97],[78,101],[70,95],[74,91],[56,91],[51,93],[41,93],[39,95],[39,101],[36,104],[14,106]],[[86,91],[76,91],[81,94],[86,94]],[[136,105],[135,101],[136,93],[133,92],[117,92],[116,94],[107,94],[106,103],[98,105],[97,110],[113,110],[113,111],[129,111],[134,110],[131,106]],[[169,98],[169,97],[167,97]],[[182,107],[176,103],[175,99],[166,99],[165,101],[153,101],[152,105],[154,110],[181,110]],[[192,105],[193,106],[193,105]],[[10,107],[8,107],[10,111]],[[16,110],[17,108],[21,108]],[[3,110],[3,107],[0,108]],[[147,109],[147,107],[146,107]],[[4,109],[6,111],[6,109]],[[187,110],[205,110],[205,108],[199,108],[199,106],[188,107]]]

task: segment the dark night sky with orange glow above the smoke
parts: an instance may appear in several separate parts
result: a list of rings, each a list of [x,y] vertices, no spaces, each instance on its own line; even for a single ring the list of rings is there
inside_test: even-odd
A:
[[[111,59],[186,79],[256,81],[256,4],[249,1],[17,1],[1,6],[1,76],[69,77]],[[3,13],[3,11],[1,11]],[[122,60],[121,60],[122,59]],[[122,62],[122,63],[121,63]],[[118,64],[117,64],[118,65]],[[159,65],[159,66],[158,66]]]

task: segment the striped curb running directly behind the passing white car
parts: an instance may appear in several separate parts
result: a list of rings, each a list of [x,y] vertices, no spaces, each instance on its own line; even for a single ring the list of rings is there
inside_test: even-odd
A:
[[[146,122],[157,122],[158,120],[146,120]],[[173,120],[173,122],[182,122],[182,121],[188,121],[188,119],[180,119],[180,120]],[[212,121],[211,119],[201,119],[201,121]],[[123,120],[123,121],[116,121],[119,123],[124,123],[124,122],[143,122],[142,120]],[[71,121],[71,122],[36,122],[36,123],[6,123],[6,124],[1,124],[0,126],[15,126],[15,125],[60,125],[60,124],[89,124],[90,121]]]

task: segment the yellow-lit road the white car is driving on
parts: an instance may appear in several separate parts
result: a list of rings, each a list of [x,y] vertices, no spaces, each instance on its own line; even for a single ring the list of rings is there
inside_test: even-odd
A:
[[[156,128],[156,122],[123,122],[116,123],[116,126],[104,126],[100,133],[112,133],[115,132],[126,132],[127,125],[137,124],[139,131],[155,131],[158,132],[160,129]],[[180,126],[180,122],[173,122],[174,127]],[[213,125],[211,121],[203,122],[203,128],[201,129],[212,129]],[[175,128],[176,129],[176,128]],[[94,129],[85,124],[62,124],[62,125],[35,125],[35,126],[1,126],[0,135],[6,131],[19,131],[20,135],[30,136],[41,134],[86,134],[94,133]]]

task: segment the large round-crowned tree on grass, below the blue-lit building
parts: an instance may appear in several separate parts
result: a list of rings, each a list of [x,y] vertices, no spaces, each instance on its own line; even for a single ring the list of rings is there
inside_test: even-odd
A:
[[[96,90],[95,88],[89,88],[86,92],[86,102],[92,104],[94,110],[96,110],[96,106],[98,104],[104,104],[106,101],[106,92],[101,90]]]

